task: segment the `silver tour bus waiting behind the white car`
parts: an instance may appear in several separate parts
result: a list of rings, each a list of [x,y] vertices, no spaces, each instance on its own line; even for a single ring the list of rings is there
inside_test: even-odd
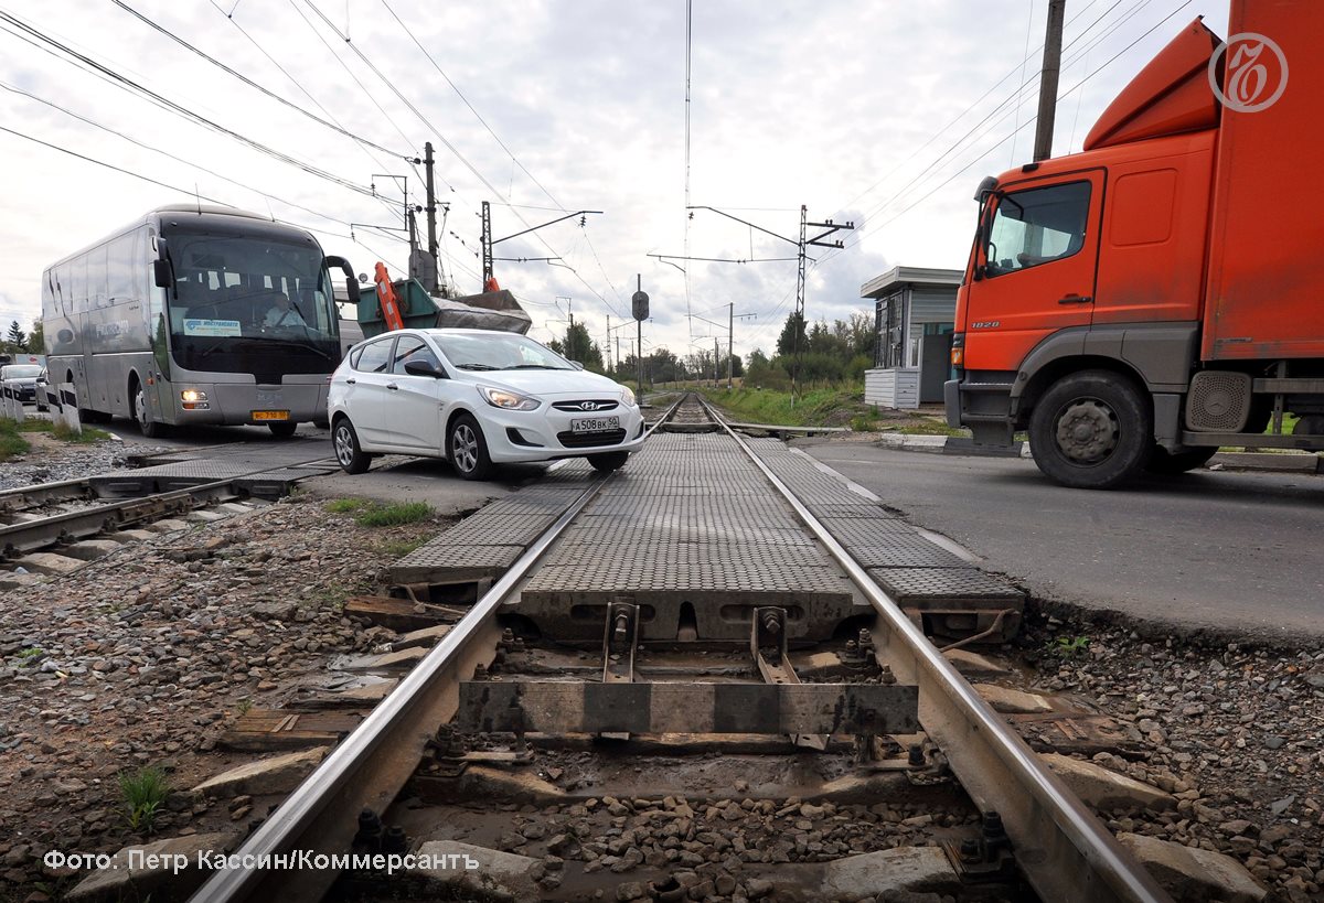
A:
[[[85,418],[262,424],[290,436],[324,421],[340,363],[331,273],[303,229],[209,205],[163,207],[46,267],[41,320],[53,383]]]

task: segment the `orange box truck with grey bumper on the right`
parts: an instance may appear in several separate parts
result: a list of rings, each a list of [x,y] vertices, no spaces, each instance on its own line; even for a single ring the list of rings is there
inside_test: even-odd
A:
[[[1084,150],[980,185],[947,418],[1107,489],[1218,446],[1324,449],[1324,1],[1233,0]]]

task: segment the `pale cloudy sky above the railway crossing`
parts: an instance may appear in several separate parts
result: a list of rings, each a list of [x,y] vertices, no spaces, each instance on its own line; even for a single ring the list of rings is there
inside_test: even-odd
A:
[[[48,263],[195,193],[401,273],[381,226],[401,225],[405,177],[422,203],[425,142],[462,293],[483,200],[498,238],[604,211],[496,245],[559,258],[496,263],[542,340],[569,309],[605,342],[639,274],[646,350],[724,344],[728,303],[756,315],[737,354],[775,344],[793,261],[649,257],[794,256],[690,218],[687,183],[690,204],[790,238],[801,204],[854,221],[846,250],[814,254],[812,320],[871,310],[861,285],[898,263],[963,266],[974,185],[1030,158],[1047,0],[691,4],[687,41],[686,0],[0,0],[0,323],[38,315]],[[1226,32],[1226,0],[1068,0],[1055,154],[1197,15]]]

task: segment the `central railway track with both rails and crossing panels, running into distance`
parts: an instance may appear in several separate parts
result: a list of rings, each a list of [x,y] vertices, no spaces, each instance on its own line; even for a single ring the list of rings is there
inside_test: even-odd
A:
[[[401,563],[477,601],[195,899],[1169,899],[922,630],[1010,609],[896,589],[977,572],[694,396],[654,429]],[[299,851],[365,858],[253,867]]]

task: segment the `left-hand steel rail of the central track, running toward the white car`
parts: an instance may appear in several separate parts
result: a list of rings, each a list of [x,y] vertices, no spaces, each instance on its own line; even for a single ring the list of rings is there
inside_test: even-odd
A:
[[[608,479],[610,474],[594,479],[493,584],[459,624],[418,661],[359,727],[230,854],[232,861],[241,867],[225,867],[213,873],[193,895],[193,900],[225,903],[279,899],[294,903],[320,899],[335,880],[331,871],[315,871],[310,875],[297,869],[262,870],[242,866],[295,850],[348,851],[354,820],[359,812],[365,806],[381,812],[389,805],[417,767],[436,727],[449,720],[446,711],[454,714],[454,707],[458,706],[458,679],[467,677],[461,671],[466,665],[471,671],[478,661],[475,657],[485,657],[483,663],[490,658],[490,649],[477,647],[478,637],[487,634],[495,643],[496,610]],[[332,825],[330,820],[339,821]],[[297,846],[299,843],[303,846]]]

